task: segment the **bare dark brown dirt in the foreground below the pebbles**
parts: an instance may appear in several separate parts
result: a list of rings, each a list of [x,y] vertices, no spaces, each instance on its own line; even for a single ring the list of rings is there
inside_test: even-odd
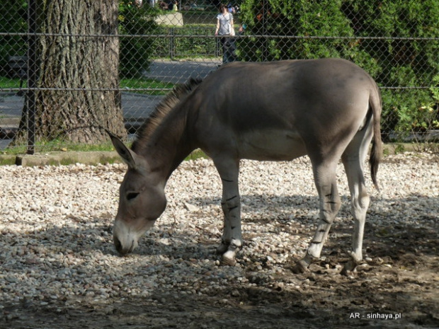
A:
[[[376,258],[352,277],[339,274],[336,265],[346,259],[334,251],[340,238],[331,239],[325,260],[304,275],[283,277],[302,282],[294,290],[274,277],[262,282],[267,279],[255,277],[248,264],[253,287],[231,283],[210,296],[156,291],[149,299],[106,304],[84,297],[74,307],[23,301],[4,306],[0,328],[439,328],[437,221],[426,229],[389,232],[366,224],[367,253]]]

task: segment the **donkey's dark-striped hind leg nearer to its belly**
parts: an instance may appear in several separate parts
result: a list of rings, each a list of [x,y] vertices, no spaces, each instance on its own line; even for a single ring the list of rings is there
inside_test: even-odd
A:
[[[336,181],[337,161],[331,163],[321,163],[314,165],[314,181],[319,192],[319,224],[314,233],[307,253],[304,258],[297,262],[292,272],[303,273],[307,271],[309,265],[320,258],[321,249],[328,237],[329,229],[336,217],[338,209],[341,207],[340,197],[337,190]]]

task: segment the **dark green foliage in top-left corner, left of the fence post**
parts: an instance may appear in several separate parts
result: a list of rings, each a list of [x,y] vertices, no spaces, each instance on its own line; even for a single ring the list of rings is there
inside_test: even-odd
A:
[[[26,33],[27,0],[0,0],[0,33]],[[0,76],[8,76],[8,59],[24,56],[27,51],[22,35],[0,35]]]

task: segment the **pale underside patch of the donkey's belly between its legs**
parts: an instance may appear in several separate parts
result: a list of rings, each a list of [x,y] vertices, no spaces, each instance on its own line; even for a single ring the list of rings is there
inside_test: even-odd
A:
[[[307,154],[298,134],[290,130],[246,132],[238,142],[240,158],[259,161],[289,161]]]

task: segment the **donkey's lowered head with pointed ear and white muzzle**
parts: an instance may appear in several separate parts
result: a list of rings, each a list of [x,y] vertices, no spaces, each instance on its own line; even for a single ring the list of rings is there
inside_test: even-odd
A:
[[[131,253],[139,238],[152,228],[164,212],[164,185],[149,169],[146,159],[110,134],[115,150],[128,169],[119,190],[119,208],[113,227],[113,241],[121,255]]]

